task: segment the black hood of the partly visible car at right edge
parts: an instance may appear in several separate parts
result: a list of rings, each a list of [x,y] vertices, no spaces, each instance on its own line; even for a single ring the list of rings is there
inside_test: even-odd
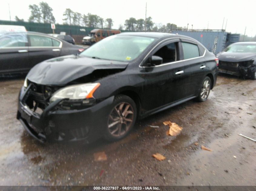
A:
[[[256,58],[256,53],[230,53],[230,52],[221,52],[217,55],[217,58],[220,61],[224,62],[243,62]]]

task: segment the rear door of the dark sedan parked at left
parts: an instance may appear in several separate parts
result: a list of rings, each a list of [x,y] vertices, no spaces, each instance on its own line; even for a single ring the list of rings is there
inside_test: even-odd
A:
[[[47,59],[58,57],[61,52],[61,41],[41,34],[28,34],[29,63],[31,68]]]

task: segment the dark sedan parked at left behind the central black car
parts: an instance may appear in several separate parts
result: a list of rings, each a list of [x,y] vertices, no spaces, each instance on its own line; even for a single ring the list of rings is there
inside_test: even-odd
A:
[[[39,62],[81,51],[80,46],[43,33],[6,33],[0,36],[0,75],[26,73]]]

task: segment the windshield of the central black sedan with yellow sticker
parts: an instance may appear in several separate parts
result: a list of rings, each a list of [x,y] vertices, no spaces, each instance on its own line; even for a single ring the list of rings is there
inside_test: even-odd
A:
[[[114,35],[99,41],[80,55],[99,59],[131,61],[154,41],[155,38],[152,37]]]

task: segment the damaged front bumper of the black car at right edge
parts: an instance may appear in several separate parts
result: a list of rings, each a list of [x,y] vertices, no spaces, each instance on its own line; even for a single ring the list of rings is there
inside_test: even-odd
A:
[[[247,62],[222,62],[219,61],[218,72],[253,78],[256,71],[256,65],[252,61]]]

